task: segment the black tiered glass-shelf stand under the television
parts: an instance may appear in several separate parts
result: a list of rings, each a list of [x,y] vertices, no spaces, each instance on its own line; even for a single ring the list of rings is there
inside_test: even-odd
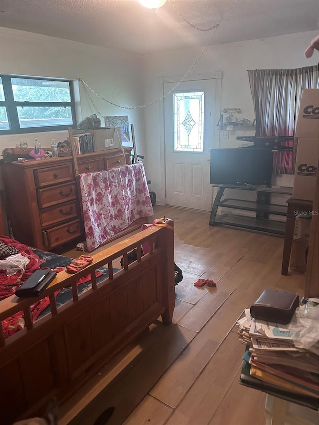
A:
[[[276,220],[276,216],[286,218],[287,205],[271,203],[271,194],[287,195],[285,199],[287,200],[292,195],[291,187],[251,186],[246,184],[213,184],[213,187],[218,187],[218,192],[210,214],[210,226],[230,226],[267,234],[285,234],[286,219]],[[225,189],[256,192],[256,200],[229,197],[222,199]],[[219,207],[227,208],[230,212],[217,214]],[[243,215],[240,214],[240,211],[250,211],[253,214]]]

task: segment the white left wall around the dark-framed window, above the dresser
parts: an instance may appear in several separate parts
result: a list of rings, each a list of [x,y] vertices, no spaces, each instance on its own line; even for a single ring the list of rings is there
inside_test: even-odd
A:
[[[76,80],[81,77],[102,97],[124,106],[143,104],[141,57],[89,44],[48,37],[9,28],[0,28],[0,73],[57,77]],[[81,83],[80,103],[82,117],[98,112],[90,105]],[[134,124],[139,151],[144,151],[144,117],[141,110],[127,110],[106,103],[91,94],[97,109],[103,116],[128,115]],[[104,126],[104,120],[99,116]],[[64,140],[67,132],[7,135],[0,137],[0,153],[6,147],[14,147],[21,140],[33,146],[38,136],[43,147],[50,141]],[[130,144],[127,144],[128,146]]]

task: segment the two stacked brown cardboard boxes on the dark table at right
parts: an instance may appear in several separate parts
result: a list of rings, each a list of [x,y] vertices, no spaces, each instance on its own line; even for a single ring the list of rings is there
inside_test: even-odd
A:
[[[304,89],[297,125],[293,198],[314,200],[319,145],[319,89]]]

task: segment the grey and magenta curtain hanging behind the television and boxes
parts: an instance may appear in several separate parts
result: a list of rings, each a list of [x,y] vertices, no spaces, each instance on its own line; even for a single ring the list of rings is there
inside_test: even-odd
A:
[[[319,88],[319,64],[297,69],[255,69],[248,71],[256,117],[256,136],[292,136],[302,89]],[[276,174],[293,174],[293,151],[274,154]]]

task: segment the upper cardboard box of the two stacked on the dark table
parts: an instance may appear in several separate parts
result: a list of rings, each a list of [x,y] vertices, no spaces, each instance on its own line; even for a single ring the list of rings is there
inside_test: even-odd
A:
[[[302,91],[295,137],[319,137],[319,89],[304,89]]]

